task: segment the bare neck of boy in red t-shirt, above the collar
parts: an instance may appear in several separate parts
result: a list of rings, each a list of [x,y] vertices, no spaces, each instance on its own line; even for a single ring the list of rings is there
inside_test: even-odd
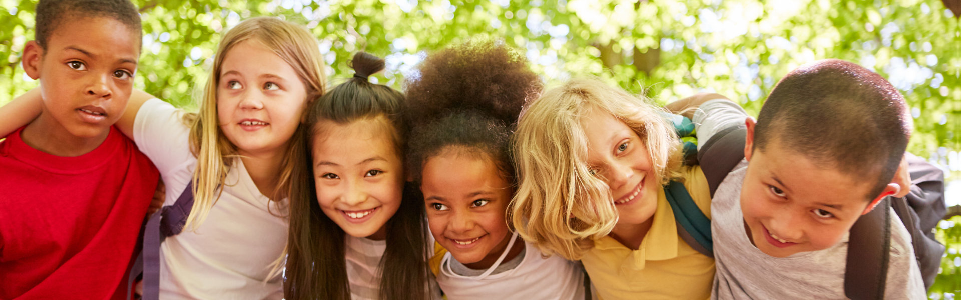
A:
[[[49,112],[42,112],[33,122],[20,133],[20,138],[31,148],[40,152],[73,158],[93,151],[107,140],[110,129],[96,137],[77,137],[63,128],[63,125],[50,116]]]

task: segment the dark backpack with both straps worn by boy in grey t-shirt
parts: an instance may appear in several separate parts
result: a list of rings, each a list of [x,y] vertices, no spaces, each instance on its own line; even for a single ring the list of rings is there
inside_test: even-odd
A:
[[[703,143],[698,161],[712,197],[727,173],[744,159],[746,136],[747,128],[741,125],[727,128]],[[850,229],[845,295],[852,300],[884,298],[891,246],[891,210],[888,208],[894,208],[911,234],[924,288],[930,288],[938,275],[945,246],[934,238],[933,230],[948,210],[944,172],[924,159],[911,154],[907,157],[912,178],[910,193],[904,198],[887,197]]]

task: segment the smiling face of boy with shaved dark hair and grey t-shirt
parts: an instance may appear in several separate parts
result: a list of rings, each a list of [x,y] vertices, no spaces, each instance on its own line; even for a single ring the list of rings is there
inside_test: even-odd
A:
[[[741,188],[741,211],[748,237],[775,258],[830,248],[841,241],[869,205],[873,188],[865,181],[816,164],[772,139],[752,150],[752,124],[745,150],[748,172]],[[873,178],[865,174],[865,178]],[[896,186],[896,185],[892,185]]]

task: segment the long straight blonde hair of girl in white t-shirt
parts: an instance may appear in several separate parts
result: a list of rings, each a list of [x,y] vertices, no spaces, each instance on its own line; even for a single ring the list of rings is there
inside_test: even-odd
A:
[[[228,51],[235,45],[257,40],[297,72],[297,77],[307,89],[307,100],[323,95],[326,85],[324,60],[320,55],[317,39],[307,29],[274,17],[256,17],[237,24],[220,40],[216,57],[204,94],[201,98],[200,112],[185,114],[190,124],[190,151],[197,157],[197,168],[193,173],[193,208],[187,216],[185,230],[194,231],[207,219],[210,209],[223,191],[224,180],[230,167],[237,158],[237,149],[224,137],[217,119],[217,85],[220,70]],[[298,126],[288,142],[287,160],[283,162],[280,178],[274,194],[267,195],[276,203],[289,196],[291,174],[294,163],[307,157],[303,150],[306,141],[300,133],[304,126]],[[220,187],[220,188],[218,188]]]

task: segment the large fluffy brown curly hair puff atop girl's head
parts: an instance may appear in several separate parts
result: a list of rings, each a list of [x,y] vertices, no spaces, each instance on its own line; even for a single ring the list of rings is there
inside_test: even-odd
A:
[[[473,111],[510,125],[543,84],[523,53],[494,38],[472,38],[431,53],[404,83],[416,125]]]

